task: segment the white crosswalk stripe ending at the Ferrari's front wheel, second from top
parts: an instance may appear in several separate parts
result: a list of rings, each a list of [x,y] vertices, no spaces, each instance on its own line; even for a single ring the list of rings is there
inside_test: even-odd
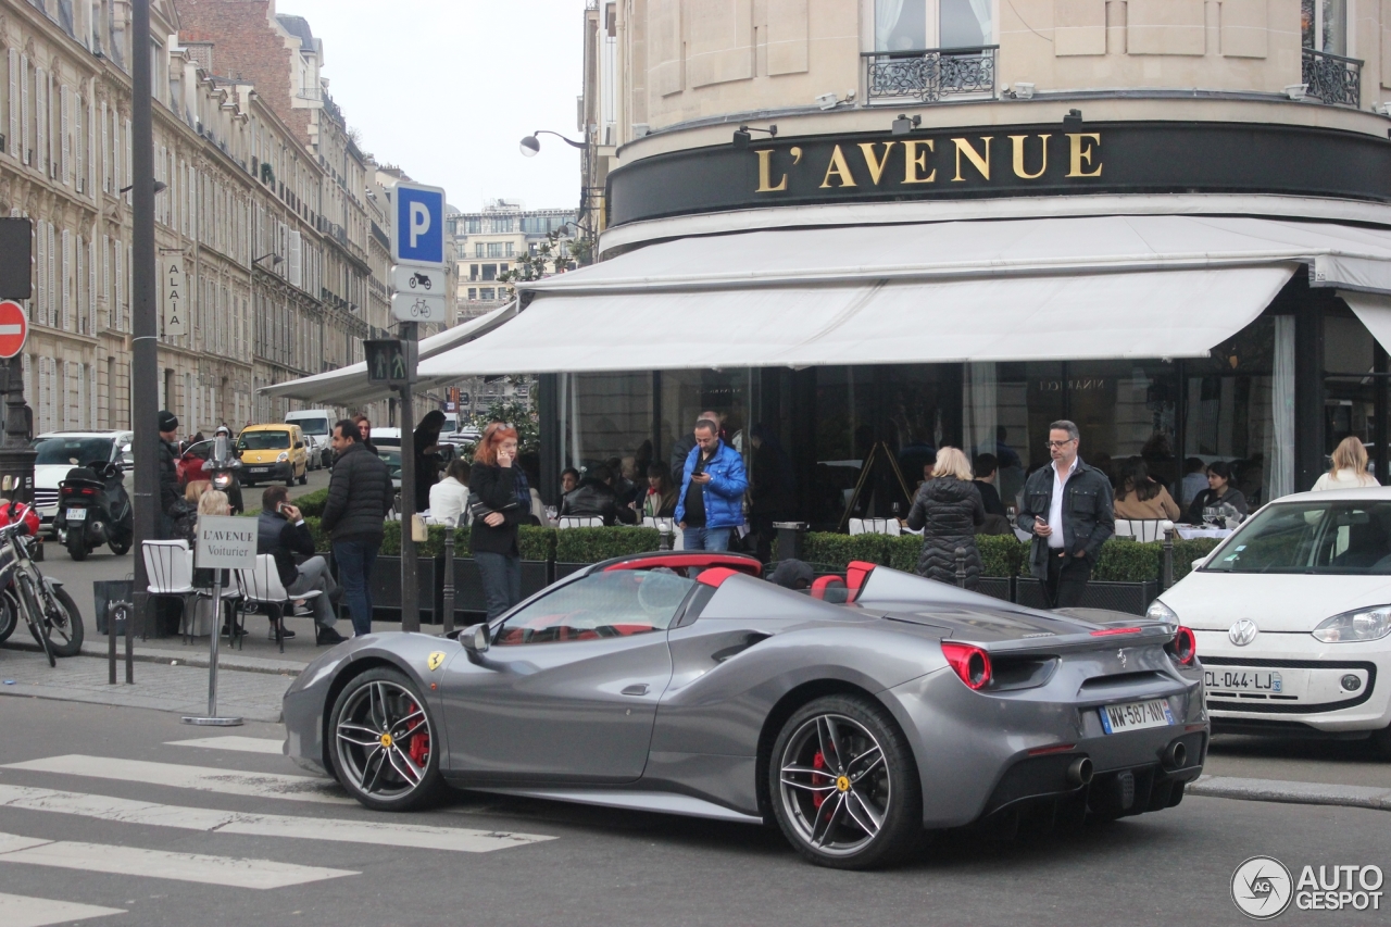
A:
[[[10,763],[0,768],[85,775],[96,779],[143,782],[146,785],[170,785],[199,792],[221,792],[223,795],[249,795],[253,798],[327,802],[332,805],[353,803],[330,779],[320,779],[310,775],[246,772],[210,766],[152,763],[149,760],[117,760],[106,756],[83,756],[81,753]]]

